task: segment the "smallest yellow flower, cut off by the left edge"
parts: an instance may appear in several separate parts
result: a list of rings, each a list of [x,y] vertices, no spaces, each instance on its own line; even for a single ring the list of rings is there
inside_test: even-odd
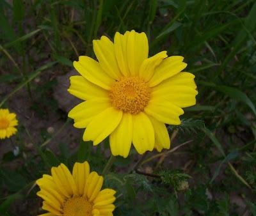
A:
[[[10,138],[16,134],[18,125],[15,113],[10,113],[8,109],[0,109],[0,139]]]

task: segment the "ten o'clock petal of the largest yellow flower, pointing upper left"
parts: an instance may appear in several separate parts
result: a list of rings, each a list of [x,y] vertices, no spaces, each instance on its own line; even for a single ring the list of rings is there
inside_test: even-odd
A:
[[[79,61],[74,61],[74,67],[85,79],[104,89],[109,90],[115,82],[102,70],[99,62],[88,56],[79,56]]]

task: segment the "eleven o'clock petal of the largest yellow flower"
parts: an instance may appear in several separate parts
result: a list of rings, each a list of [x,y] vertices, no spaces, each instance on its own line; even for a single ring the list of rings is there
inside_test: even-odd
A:
[[[93,50],[100,63],[101,68],[108,73],[110,77],[118,81],[121,72],[116,61],[114,45],[106,36],[100,40],[93,40]]]

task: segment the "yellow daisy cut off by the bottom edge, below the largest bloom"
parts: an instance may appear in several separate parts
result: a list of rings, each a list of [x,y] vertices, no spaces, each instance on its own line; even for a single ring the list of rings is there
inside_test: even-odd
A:
[[[49,212],[44,216],[113,215],[115,190],[100,190],[103,177],[90,173],[88,162],[76,163],[72,174],[64,164],[52,167],[51,174],[36,181],[42,209]]]

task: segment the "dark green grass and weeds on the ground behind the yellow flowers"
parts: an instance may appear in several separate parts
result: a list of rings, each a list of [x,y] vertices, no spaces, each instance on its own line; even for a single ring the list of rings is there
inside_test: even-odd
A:
[[[0,105],[15,112],[12,101],[26,89],[31,111],[51,122],[50,110],[63,122],[53,135],[42,128],[35,141],[19,121],[12,141],[19,151],[0,153],[0,215],[42,213],[35,180],[60,162],[72,167],[88,160],[101,173],[108,140],[104,150],[79,143],[80,137],[72,153],[65,141],[51,149],[71,125],[52,89],[78,56],[95,58],[93,39],[113,40],[116,31],[131,29],[147,34],[150,56],[161,50],[184,56],[199,94],[182,124],[168,127],[172,148],[149,153],[138,168],[161,178],[136,173],[134,151],[116,158],[104,178],[104,186],[118,191],[114,214],[256,215],[255,20],[253,0],[0,1]]]

